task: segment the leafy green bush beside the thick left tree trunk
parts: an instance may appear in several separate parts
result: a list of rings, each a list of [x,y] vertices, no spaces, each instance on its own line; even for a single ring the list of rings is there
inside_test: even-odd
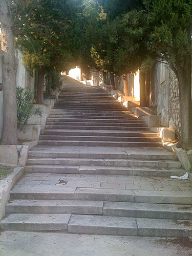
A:
[[[32,115],[42,116],[41,109],[33,106],[34,94],[30,90],[25,90],[22,87],[17,87],[17,127],[22,130],[24,125],[28,123]]]

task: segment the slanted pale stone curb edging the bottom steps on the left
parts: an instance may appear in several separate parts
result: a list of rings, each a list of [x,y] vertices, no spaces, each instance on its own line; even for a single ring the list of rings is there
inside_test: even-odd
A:
[[[10,190],[23,173],[24,167],[15,167],[12,174],[0,181],[0,221],[5,215],[5,205],[10,199]]]

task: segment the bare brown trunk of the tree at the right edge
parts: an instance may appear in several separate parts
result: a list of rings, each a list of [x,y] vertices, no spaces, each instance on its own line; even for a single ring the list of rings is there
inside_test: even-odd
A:
[[[179,103],[181,138],[178,147],[192,149],[192,102],[191,102],[191,58],[187,56],[184,68],[177,67],[179,80]]]

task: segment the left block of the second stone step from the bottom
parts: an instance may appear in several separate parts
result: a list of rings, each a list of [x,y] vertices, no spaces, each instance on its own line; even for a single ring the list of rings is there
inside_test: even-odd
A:
[[[13,214],[89,214],[102,215],[103,201],[13,200],[6,204]]]

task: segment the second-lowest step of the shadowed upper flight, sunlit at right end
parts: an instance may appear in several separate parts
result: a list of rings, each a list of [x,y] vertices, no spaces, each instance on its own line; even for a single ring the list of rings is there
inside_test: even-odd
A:
[[[67,136],[67,135],[40,135],[39,140],[70,140],[70,141],[118,141],[118,142],[160,142],[157,137],[115,137],[115,136]]]

